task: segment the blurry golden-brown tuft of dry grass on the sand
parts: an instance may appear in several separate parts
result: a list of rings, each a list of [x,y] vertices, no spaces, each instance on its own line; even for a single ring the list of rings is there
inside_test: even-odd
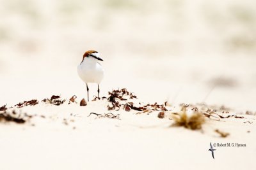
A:
[[[171,116],[175,122],[174,125],[184,126],[192,130],[201,129],[205,122],[205,117],[201,112],[195,111],[192,115],[188,115],[187,106],[182,106],[179,113],[172,113]]]

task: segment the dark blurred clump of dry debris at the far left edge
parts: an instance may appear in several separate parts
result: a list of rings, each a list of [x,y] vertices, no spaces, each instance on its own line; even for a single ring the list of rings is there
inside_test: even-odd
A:
[[[0,113],[0,122],[15,122],[17,124],[24,124],[28,119],[31,118],[30,116],[24,114],[17,114],[14,110],[12,113],[4,111]]]

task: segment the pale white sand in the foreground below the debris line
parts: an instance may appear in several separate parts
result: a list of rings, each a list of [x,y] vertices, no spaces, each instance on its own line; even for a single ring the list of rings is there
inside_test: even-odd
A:
[[[168,118],[169,113],[160,119],[159,111],[136,115],[138,111],[121,109],[111,111],[120,114],[120,119],[88,117],[90,112],[109,113],[108,104],[106,101],[90,102],[88,106],[40,103],[20,108],[38,116],[24,125],[0,124],[1,169],[253,169],[255,166],[255,116],[238,115],[245,118],[223,118],[222,122],[207,118],[202,131],[170,127],[173,120]],[[253,123],[244,123],[247,121]],[[230,136],[220,138],[214,132],[216,129]],[[246,147],[216,147],[213,160],[208,151],[210,142],[245,143]]]

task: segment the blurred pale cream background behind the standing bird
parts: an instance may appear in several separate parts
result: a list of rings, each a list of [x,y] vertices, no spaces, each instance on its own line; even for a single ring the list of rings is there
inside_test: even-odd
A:
[[[93,49],[104,59],[103,96],[125,87],[145,102],[256,110],[253,0],[0,3],[0,105],[86,97],[76,67]]]

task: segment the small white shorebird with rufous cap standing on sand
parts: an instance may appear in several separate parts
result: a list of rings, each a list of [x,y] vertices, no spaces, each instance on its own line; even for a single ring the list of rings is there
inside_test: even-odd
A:
[[[100,97],[100,82],[104,78],[104,69],[99,63],[103,61],[100,53],[95,50],[88,50],[83,55],[83,60],[77,66],[77,73],[81,80],[86,84],[87,100],[89,101],[89,88],[88,83],[98,84],[98,98]]]

